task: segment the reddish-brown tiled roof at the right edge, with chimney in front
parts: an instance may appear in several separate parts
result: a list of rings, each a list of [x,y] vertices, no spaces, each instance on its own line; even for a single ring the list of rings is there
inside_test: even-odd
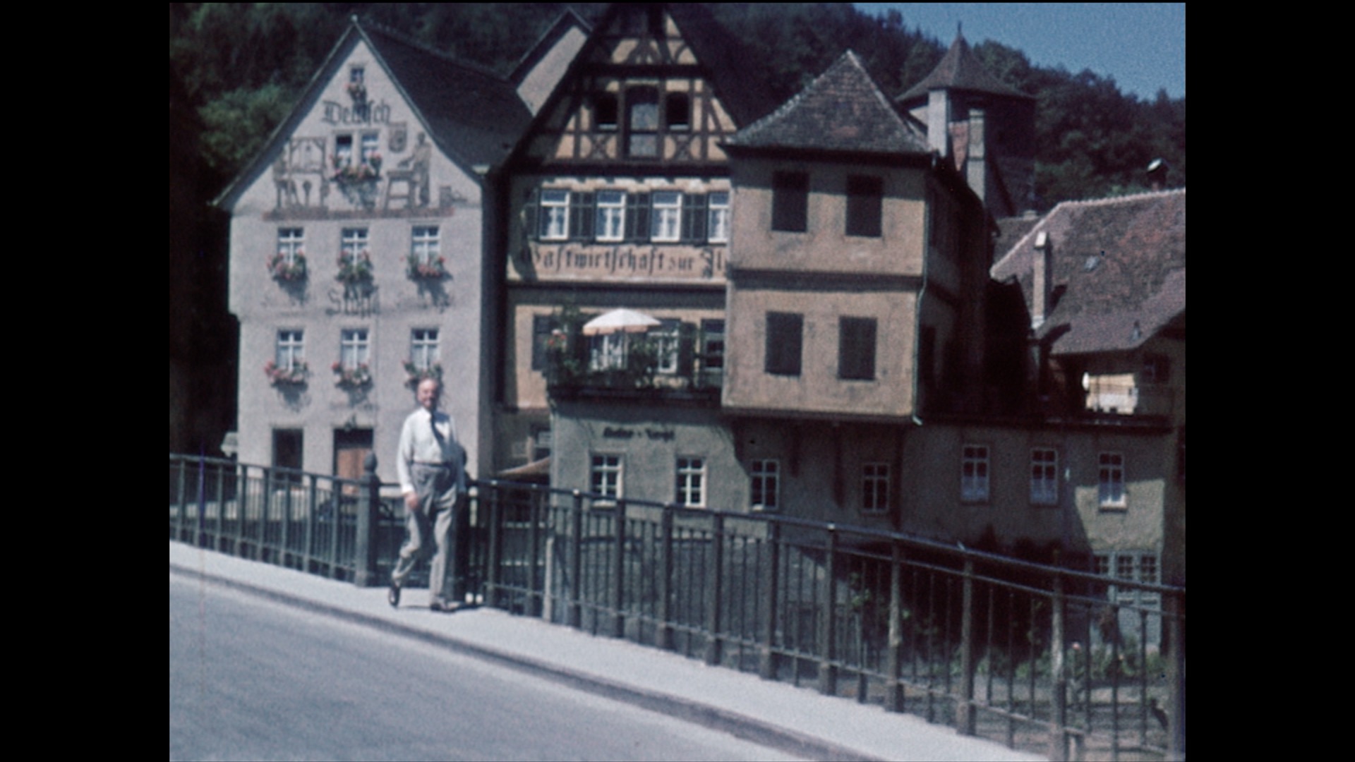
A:
[[[1186,188],[1056,206],[991,271],[1027,305],[1041,232],[1057,301],[1035,335],[1053,354],[1134,348],[1186,313]]]

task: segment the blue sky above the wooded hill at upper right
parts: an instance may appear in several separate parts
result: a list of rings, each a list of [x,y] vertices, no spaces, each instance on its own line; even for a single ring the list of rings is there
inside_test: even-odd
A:
[[[1153,99],[1186,95],[1184,3],[855,3],[871,15],[897,8],[904,26],[943,45],[963,23],[970,45],[985,39],[1026,53],[1033,64],[1111,77],[1122,92]]]

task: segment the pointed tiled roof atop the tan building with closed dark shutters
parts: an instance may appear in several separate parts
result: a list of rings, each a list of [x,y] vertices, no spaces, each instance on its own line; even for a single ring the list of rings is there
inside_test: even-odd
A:
[[[728,142],[744,148],[931,152],[923,133],[900,117],[851,50],[780,108]]]

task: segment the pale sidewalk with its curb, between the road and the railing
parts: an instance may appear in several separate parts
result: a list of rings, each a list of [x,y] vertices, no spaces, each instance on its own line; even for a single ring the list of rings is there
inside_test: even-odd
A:
[[[595,637],[495,609],[430,611],[427,591],[408,590],[400,609],[385,587],[354,587],[294,569],[169,542],[171,574],[237,590],[564,682],[576,689],[718,728],[813,759],[1043,759],[879,706],[638,645]]]

